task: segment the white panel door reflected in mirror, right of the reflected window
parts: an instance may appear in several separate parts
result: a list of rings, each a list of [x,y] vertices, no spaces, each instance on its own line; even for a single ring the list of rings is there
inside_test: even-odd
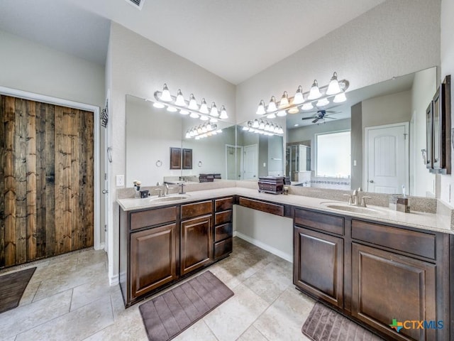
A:
[[[368,192],[402,193],[409,187],[409,124],[365,129],[365,185]]]

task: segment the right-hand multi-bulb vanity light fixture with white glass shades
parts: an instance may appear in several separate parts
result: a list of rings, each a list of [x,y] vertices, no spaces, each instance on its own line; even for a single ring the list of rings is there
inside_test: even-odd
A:
[[[266,106],[263,99],[258,104],[258,115],[265,116],[267,119],[274,118],[273,115],[284,116],[284,113],[279,114],[279,110],[285,109],[289,114],[297,114],[300,110],[311,110],[314,107],[326,107],[331,102],[345,102],[345,90],[348,89],[350,83],[348,80],[338,80],[337,72],[333,72],[328,85],[319,87],[319,82],[314,80],[309,91],[303,92],[301,85],[297,88],[294,97],[289,97],[287,91],[284,91],[279,102],[276,102],[274,96],[271,97],[269,104]]]

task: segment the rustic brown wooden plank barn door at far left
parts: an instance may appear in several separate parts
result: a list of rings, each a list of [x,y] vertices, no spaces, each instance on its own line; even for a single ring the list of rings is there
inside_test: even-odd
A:
[[[93,246],[94,114],[0,97],[0,267]]]

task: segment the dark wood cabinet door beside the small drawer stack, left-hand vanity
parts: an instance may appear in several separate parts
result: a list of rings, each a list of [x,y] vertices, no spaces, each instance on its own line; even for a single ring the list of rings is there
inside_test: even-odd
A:
[[[182,222],[181,274],[187,274],[213,260],[211,215]]]

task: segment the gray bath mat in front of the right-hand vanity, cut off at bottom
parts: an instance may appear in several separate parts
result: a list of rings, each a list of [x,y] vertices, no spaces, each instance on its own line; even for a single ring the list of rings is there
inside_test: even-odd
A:
[[[314,305],[301,331],[314,341],[384,341],[321,303]]]

